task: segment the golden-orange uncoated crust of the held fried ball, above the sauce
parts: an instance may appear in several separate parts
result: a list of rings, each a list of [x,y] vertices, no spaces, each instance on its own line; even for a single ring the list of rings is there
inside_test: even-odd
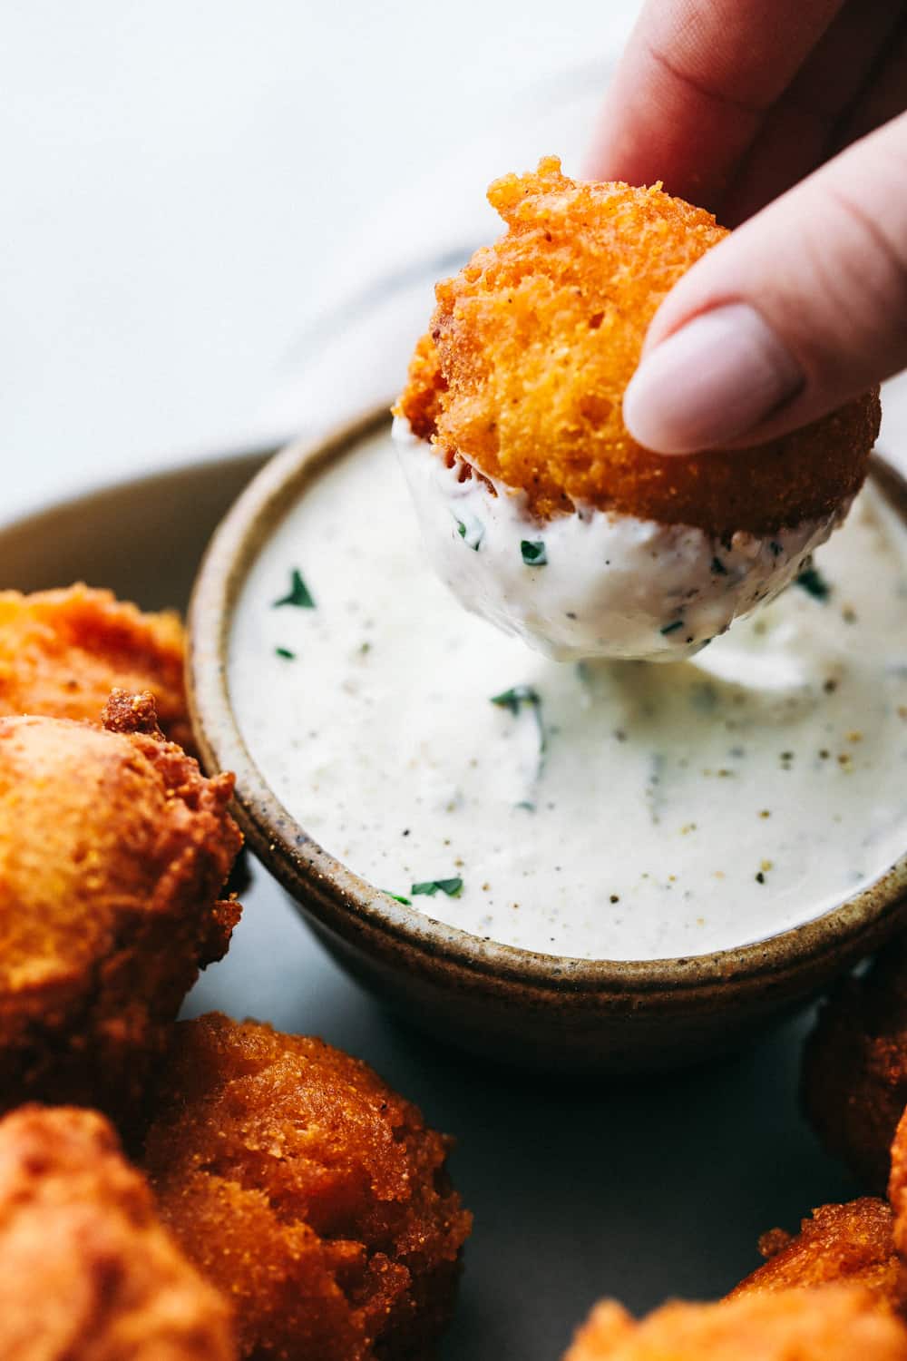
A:
[[[437,286],[394,408],[439,457],[524,489],[540,519],[585,502],[715,535],[827,516],[859,489],[877,389],[745,450],[661,457],[627,433],[649,323],[728,235],[711,214],[658,185],[574,182],[555,157],[488,199],[507,233]]]

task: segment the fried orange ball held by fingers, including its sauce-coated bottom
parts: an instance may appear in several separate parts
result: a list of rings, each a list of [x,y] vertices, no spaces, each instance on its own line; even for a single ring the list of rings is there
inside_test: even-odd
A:
[[[728,233],[556,158],[488,199],[507,233],[438,284],[394,407],[428,553],[466,608],[555,659],[688,656],[843,520],[878,392],[752,449],[654,455],[623,395],[661,299]]]

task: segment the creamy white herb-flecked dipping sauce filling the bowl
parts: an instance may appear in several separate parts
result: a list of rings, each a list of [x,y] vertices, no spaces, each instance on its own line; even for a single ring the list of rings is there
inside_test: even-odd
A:
[[[437,580],[379,434],[253,563],[233,702],[287,810],[413,909],[547,954],[704,954],[907,847],[907,534],[880,493],[816,568],[695,663],[551,661]],[[275,607],[294,569],[314,607]],[[413,894],[435,881],[462,889]]]

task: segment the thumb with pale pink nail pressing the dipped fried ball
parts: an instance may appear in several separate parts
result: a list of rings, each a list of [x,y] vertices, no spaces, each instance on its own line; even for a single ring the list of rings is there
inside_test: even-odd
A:
[[[624,395],[660,453],[742,448],[907,366],[907,114],[703,256],[649,328]]]

